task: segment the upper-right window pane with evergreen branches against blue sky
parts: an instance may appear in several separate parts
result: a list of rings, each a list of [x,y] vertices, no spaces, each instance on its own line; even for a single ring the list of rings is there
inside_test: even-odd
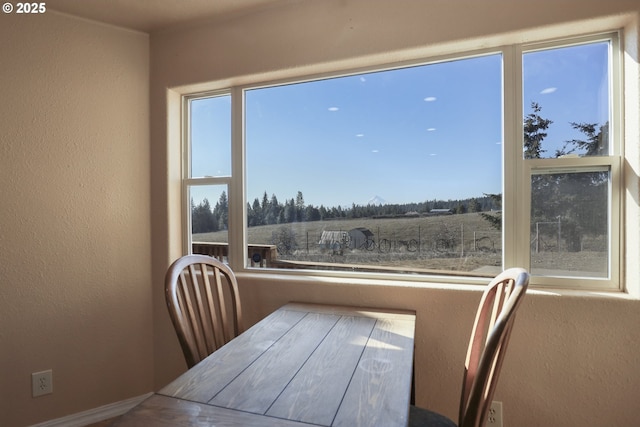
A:
[[[524,157],[609,155],[609,43],[523,55]]]

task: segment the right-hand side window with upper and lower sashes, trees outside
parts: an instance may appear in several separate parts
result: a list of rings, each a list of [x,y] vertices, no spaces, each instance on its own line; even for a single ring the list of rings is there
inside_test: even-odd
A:
[[[534,276],[616,283],[614,44],[612,35],[523,52],[520,169],[530,191],[525,258]]]

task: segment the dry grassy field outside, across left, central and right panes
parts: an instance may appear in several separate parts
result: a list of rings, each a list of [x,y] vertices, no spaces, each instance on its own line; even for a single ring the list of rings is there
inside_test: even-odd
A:
[[[374,246],[328,249],[321,247],[323,231],[348,232],[366,228],[373,233]],[[295,239],[295,248],[282,250],[274,236],[283,231]],[[502,263],[500,232],[478,213],[401,218],[359,218],[251,227],[250,244],[279,246],[278,259],[296,262],[348,265],[377,265],[446,271],[474,271],[493,275]],[[546,236],[555,241],[555,236]],[[585,239],[587,240],[587,239]],[[227,242],[227,232],[194,234],[193,241]],[[531,268],[603,277],[607,273],[606,251],[558,252],[555,245],[531,256]]]

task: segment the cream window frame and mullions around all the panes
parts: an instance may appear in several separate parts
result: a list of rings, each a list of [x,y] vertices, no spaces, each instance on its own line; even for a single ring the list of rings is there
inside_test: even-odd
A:
[[[467,276],[443,275],[406,275],[400,273],[352,273],[344,271],[316,271],[316,270],[281,270],[259,269],[249,267],[246,251],[247,237],[247,200],[246,200],[246,146],[244,138],[244,101],[245,92],[252,89],[277,86],[282,84],[301,83],[332,77],[356,75],[365,72],[393,70],[409,66],[433,64],[444,61],[472,58],[490,54],[502,55],[502,268],[512,266],[530,267],[530,245],[528,242],[531,211],[532,174],[541,170],[550,171],[566,168],[588,168],[607,166],[611,173],[610,201],[609,201],[609,277],[602,278],[573,278],[558,276],[533,276],[532,286],[554,289],[578,289],[599,291],[624,290],[622,274],[624,260],[624,236],[622,234],[622,212],[624,182],[622,180],[622,166],[624,160],[623,141],[623,96],[622,96],[622,54],[621,32],[609,31],[583,36],[555,38],[535,42],[517,43],[494,48],[455,52],[449,55],[423,57],[420,60],[401,61],[394,64],[380,64],[378,66],[354,68],[347,71],[310,74],[290,79],[264,80],[247,84],[239,84],[222,90],[189,93],[182,96],[182,212],[183,212],[183,252],[191,253],[191,211],[189,188],[200,185],[221,185],[228,188],[229,201],[229,264],[237,272],[251,272],[260,274],[285,274],[291,276],[314,276],[358,278],[377,280],[402,280],[435,283],[480,284],[486,278]],[[526,52],[549,48],[568,47],[610,41],[609,55],[609,85],[610,85],[610,140],[611,155],[602,157],[566,158],[566,159],[524,159],[523,153],[523,54]],[[193,99],[210,96],[231,96],[231,174],[225,177],[190,177],[190,125],[189,102]],[[232,243],[233,242],[233,243]],[[236,244],[238,243],[238,244]],[[618,260],[616,262],[615,260]]]

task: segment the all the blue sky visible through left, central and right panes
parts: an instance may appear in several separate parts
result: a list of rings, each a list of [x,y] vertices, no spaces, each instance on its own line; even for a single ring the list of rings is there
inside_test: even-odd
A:
[[[578,136],[570,121],[606,122],[607,48],[525,55],[525,114],[536,101],[554,121],[547,155]],[[499,193],[501,70],[494,54],[248,91],[249,203],[265,191],[326,207]],[[192,104],[194,176],[229,174],[229,112],[229,97]]]

